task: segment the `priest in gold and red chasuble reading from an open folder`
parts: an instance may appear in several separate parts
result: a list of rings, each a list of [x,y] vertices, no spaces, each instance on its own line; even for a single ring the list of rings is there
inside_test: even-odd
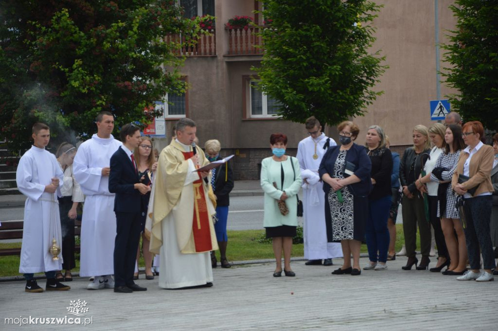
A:
[[[194,171],[209,164],[200,148],[192,148],[195,133],[194,121],[179,120],[177,138],[162,150],[156,170],[150,251],[159,254],[159,287],[164,289],[213,285],[214,194],[204,180],[208,172]]]

